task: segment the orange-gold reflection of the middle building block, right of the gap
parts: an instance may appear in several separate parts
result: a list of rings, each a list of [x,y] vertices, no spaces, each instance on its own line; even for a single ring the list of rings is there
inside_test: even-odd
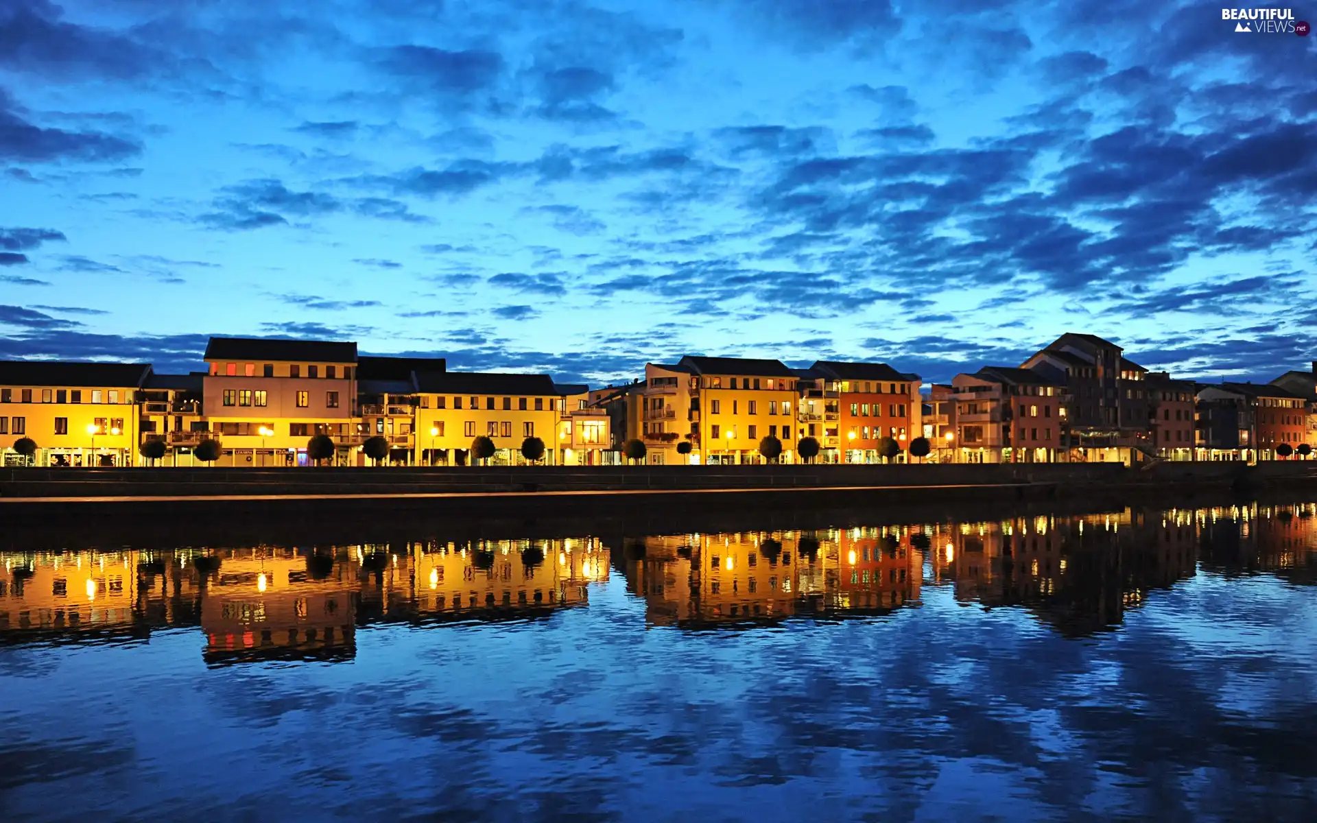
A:
[[[918,599],[923,566],[897,528],[644,537],[628,554],[648,622],[682,627],[885,612]]]

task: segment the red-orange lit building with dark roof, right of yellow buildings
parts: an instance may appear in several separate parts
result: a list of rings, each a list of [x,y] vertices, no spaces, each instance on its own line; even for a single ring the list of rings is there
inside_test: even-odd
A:
[[[918,374],[897,371],[886,363],[817,361],[811,373],[839,383],[840,449],[848,464],[880,460],[878,442],[890,437],[905,450],[923,435],[923,386]]]

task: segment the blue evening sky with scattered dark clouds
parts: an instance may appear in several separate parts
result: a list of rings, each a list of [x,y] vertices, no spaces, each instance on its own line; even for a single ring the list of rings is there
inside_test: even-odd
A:
[[[1317,5],[1295,8],[1317,20]],[[0,357],[1317,359],[1317,37],[1146,0],[0,0]]]

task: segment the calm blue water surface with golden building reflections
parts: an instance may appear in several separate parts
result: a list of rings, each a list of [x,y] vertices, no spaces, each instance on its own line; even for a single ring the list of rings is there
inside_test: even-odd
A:
[[[0,564],[7,820],[1317,809],[1313,503]]]

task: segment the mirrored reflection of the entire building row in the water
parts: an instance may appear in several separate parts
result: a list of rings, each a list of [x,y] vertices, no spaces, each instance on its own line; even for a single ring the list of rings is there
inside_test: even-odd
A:
[[[30,553],[0,550],[0,645],[199,627],[211,665],[350,660],[356,628],[524,619],[586,606],[620,569],[648,625],[888,614],[927,583],[1022,607],[1067,636],[1119,625],[1213,571],[1317,581],[1317,504],[552,540]]]

